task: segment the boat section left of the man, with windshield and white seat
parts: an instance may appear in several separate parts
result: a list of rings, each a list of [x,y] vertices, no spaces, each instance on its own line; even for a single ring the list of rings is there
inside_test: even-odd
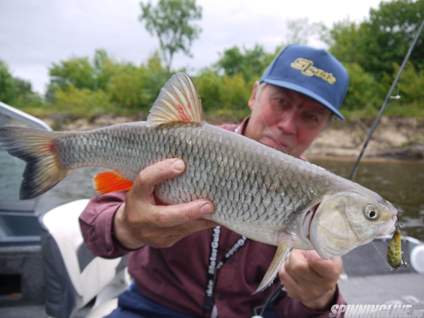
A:
[[[10,120],[14,126],[52,130],[0,102],[0,126]],[[12,165],[20,164],[22,173],[23,162],[6,155]],[[13,177],[20,184],[21,176]],[[85,247],[78,216],[88,198],[43,213],[39,207],[49,197],[20,201],[17,193],[5,196],[11,199],[0,197],[0,317],[96,318],[117,307],[117,295],[131,282],[128,257],[94,257]]]

